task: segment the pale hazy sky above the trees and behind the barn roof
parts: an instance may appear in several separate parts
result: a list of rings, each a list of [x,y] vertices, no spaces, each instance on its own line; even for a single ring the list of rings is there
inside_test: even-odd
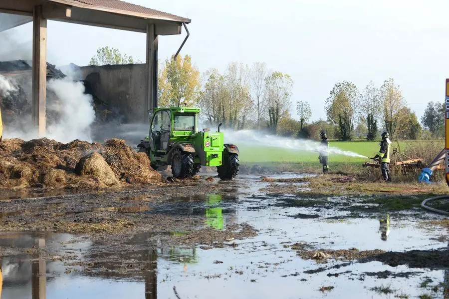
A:
[[[428,101],[444,101],[449,77],[447,0],[129,0],[192,19],[182,54],[201,71],[229,61],[264,61],[291,75],[292,102],[311,104],[313,119],[341,80],[360,90],[393,77],[421,117]],[[31,48],[31,24],[9,30]],[[161,36],[159,57],[185,36]],[[48,61],[86,65],[100,46],[145,59],[145,34],[62,22],[48,24]],[[17,51],[14,51],[18,53]],[[31,56],[30,50],[26,51]],[[4,57],[0,57],[3,59]]]

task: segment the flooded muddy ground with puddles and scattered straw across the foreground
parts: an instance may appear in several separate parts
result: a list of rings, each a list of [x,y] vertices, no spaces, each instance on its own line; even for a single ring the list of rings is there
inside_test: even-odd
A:
[[[0,191],[2,296],[35,288],[42,261],[47,298],[97,298],[93,288],[108,298],[449,296],[449,223],[420,207],[445,186],[210,175],[138,190]],[[87,289],[71,292],[80,282]]]

